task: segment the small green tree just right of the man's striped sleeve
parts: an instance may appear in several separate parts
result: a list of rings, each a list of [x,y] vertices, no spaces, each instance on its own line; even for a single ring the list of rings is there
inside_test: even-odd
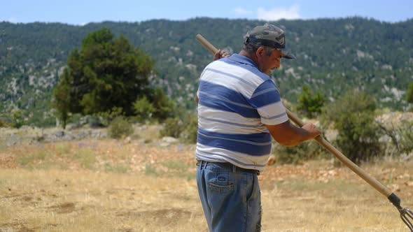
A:
[[[313,94],[308,85],[302,87],[302,92],[298,95],[297,110],[307,117],[314,117],[321,113],[321,108],[325,103],[325,96],[321,92]]]

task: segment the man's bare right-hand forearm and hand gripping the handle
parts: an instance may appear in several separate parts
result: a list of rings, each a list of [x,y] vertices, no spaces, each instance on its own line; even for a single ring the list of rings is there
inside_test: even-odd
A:
[[[311,123],[305,124],[300,128],[290,124],[290,121],[287,120],[281,124],[265,126],[267,126],[267,129],[274,140],[287,147],[298,145],[305,140],[310,140],[321,135],[321,132],[318,131],[316,126]]]

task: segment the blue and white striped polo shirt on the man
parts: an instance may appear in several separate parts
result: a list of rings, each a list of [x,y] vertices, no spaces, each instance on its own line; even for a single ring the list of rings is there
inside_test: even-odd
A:
[[[204,68],[197,96],[196,159],[262,171],[272,139],[265,124],[288,120],[272,79],[235,54]]]

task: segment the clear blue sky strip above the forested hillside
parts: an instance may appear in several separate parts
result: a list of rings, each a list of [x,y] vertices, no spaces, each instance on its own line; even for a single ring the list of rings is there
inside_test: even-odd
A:
[[[86,24],[225,17],[250,20],[361,16],[386,22],[413,18],[413,0],[0,0],[0,21]]]

